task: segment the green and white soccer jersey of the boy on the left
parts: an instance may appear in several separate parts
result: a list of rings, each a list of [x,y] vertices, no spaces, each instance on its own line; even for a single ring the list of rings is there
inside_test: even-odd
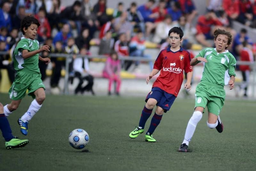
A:
[[[39,54],[36,54],[29,58],[22,58],[22,51],[35,51],[39,49],[39,42],[37,40],[26,39],[21,37],[20,42],[17,44],[13,52],[14,69],[17,71],[25,71],[29,73],[40,74],[38,67]]]

